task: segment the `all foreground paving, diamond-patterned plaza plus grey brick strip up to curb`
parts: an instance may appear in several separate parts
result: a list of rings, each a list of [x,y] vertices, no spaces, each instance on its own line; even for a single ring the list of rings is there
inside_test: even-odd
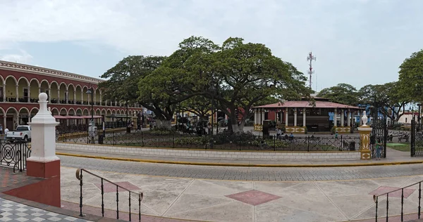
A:
[[[75,159],[71,161],[70,158]],[[61,157],[61,159],[62,205],[65,209],[72,209],[78,206],[79,181],[75,178],[76,168],[64,165],[72,165],[71,162],[78,162],[78,158]],[[224,174],[235,175],[237,170],[249,174],[258,170],[257,174],[266,175],[266,171],[278,171],[281,175],[293,176],[293,181],[242,181],[201,179],[198,178],[201,177],[200,174],[192,174],[193,178],[180,178],[178,172],[182,174],[187,169],[180,169],[180,165],[172,164],[142,164],[84,158],[79,158],[79,161],[81,161],[78,163],[80,167],[92,169],[95,174],[119,182],[135,192],[143,192],[145,196],[142,200],[142,214],[198,221],[360,221],[369,218],[370,221],[374,221],[373,194],[423,181],[423,175],[420,175],[423,172],[423,164],[335,169],[247,168],[244,170],[238,167],[188,166],[193,169],[207,168],[209,171],[218,171],[219,174],[221,173],[219,168],[222,168],[226,172]],[[168,166],[166,171],[175,175],[173,177],[140,175],[145,168],[150,171],[154,171],[150,167],[164,170],[160,165]],[[342,174],[348,174],[350,178],[330,179],[330,174],[336,171],[341,172],[336,174],[336,177],[341,178]],[[360,178],[365,172],[368,178]],[[410,176],[398,176],[404,172],[408,172]],[[307,179],[304,175],[308,175],[305,177]],[[320,180],[319,175],[329,177]],[[385,176],[388,177],[382,178]],[[90,210],[101,211],[99,183],[97,178],[84,177],[84,204]],[[417,217],[413,213],[417,212],[418,193],[418,185],[405,192],[404,212],[410,214],[407,219]],[[119,197],[121,203],[119,209],[128,211],[128,192],[120,192]],[[104,198],[106,209],[116,210],[116,192],[106,192]],[[379,215],[386,215],[384,206],[386,206],[385,197],[379,201]],[[400,214],[400,207],[400,194],[391,195],[389,215]],[[132,205],[131,209],[137,211],[137,206]],[[395,221],[395,218],[390,218],[390,221]]]

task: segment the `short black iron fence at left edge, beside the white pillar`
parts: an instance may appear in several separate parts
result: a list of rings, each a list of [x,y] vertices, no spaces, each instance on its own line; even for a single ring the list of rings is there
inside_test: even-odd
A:
[[[31,146],[25,141],[0,140],[0,165],[18,169],[26,169],[26,159],[31,156]]]

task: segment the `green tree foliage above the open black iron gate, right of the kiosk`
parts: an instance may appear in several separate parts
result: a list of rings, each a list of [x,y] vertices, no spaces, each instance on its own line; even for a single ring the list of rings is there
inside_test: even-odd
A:
[[[410,102],[401,95],[400,84],[397,81],[363,86],[359,94],[360,103],[384,107],[380,111],[394,122],[398,122],[398,119],[403,115],[405,105]]]

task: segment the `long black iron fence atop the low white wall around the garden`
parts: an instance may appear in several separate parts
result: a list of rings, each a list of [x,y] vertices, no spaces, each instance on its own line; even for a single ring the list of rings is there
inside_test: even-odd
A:
[[[149,131],[133,133],[97,131],[88,133],[63,133],[59,142],[99,143],[105,145],[125,145],[154,148],[188,148],[206,150],[264,150],[264,151],[355,151],[360,150],[358,136],[255,136],[255,135],[197,136],[193,134],[157,134]]]

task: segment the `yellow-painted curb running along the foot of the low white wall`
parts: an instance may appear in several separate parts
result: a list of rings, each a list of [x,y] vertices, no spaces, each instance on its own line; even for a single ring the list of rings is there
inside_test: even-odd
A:
[[[208,162],[178,162],[167,160],[153,160],[153,159],[131,159],[123,157],[102,157],[92,155],[80,155],[66,152],[56,152],[56,155],[68,157],[84,157],[92,159],[107,159],[127,162],[145,162],[154,164],[183,164],[195,166],[255,166],[255,167],[341,167],[341,166],[388,166],[388,165],[403,165],[403,164],[423,164],[423,161],[405,161],[405,162],[380,162],[380,163],[356,163],[356,164],[233,164],[233,163],[208,163]]]

